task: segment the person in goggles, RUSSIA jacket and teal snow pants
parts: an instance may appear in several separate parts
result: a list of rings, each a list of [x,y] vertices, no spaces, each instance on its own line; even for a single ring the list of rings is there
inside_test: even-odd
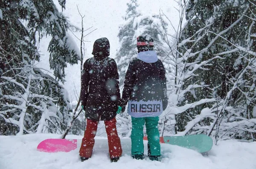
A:
[[[128,114],[131,115],[131,154],[142,159],[143,126],[148,136],[148,156],[158,161],[160,154],[159,115],[168,104],[166,76],[163,63],[153,51],[154,40],[151,37],[137,38],[138,56],[128,66],[125,76],[122,99],[128,101]],[[124,111],[124,110],[123,110]],[[122,112],[123,112],[122,111]]]

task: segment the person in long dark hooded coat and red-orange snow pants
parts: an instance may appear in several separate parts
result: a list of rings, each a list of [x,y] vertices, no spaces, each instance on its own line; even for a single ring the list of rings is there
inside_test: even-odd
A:
[[[81,161],[91,157],[98,121],[105,121],[109,155],[112,162],[122,155],[120,138],[116,131],[116,113],[121,111],[119,75],[114,59],[109,58],[110,44],[107,38],[94,42],[93,57],[84,62],[81,80],[81,105],[85,111],[87,126],[79,151]]]

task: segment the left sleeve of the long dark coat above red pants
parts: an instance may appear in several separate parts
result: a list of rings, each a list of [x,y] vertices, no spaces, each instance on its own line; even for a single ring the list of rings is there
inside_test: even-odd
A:
[[[88,59],[84,62],[84,68],[82,70],[81,76],[81,91],[80,91],[80,100],[81,105],[86,106],[87,102],[87,95],[88,95],[88,86],[90,81],[90,74],[89,74],[89,63]]]

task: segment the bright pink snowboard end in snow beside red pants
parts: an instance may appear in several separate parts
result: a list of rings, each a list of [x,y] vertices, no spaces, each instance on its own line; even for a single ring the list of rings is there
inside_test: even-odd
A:
[[[71,150],[74,150],[76,148],[76,139],[49,138],[39,143],[37,150],[41,152],[70,152]]]

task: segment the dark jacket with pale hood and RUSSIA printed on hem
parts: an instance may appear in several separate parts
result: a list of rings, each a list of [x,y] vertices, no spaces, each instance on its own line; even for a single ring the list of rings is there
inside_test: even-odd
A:
[[[131,116],[154,117],[166,109],[168,97],[165,73],[163,63],[157,59],[155,51],[140,52],[137,59],[130,62],[122,99],[129,101],[128,113]],[[131,104],[135,103],[136,107],[132,107]],[[160,103],[161,107],[154,103]]]

